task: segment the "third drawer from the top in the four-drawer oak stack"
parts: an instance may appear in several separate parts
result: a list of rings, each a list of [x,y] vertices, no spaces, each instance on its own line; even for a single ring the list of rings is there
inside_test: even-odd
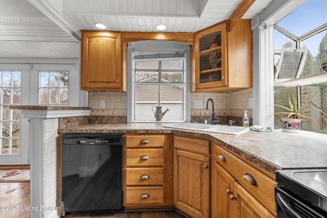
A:
[[[163,185],[163,167],[126,168],[126,185]]]

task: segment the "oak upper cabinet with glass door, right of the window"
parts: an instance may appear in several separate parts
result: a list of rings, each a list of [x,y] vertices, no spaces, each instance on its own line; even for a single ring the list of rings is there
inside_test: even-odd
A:
[[[231,32],[222,22],[195,33],[191,91],[232,92],[252,87],[252,30],[241,20]]]

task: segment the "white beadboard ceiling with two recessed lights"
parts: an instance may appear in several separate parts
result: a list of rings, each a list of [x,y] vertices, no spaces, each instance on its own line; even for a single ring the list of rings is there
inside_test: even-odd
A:
[[[256,0],[251,19],[273,0]],[[80,30],[196,32],[228,19],[242,0],[0,0],[0,62],[79,58]]]

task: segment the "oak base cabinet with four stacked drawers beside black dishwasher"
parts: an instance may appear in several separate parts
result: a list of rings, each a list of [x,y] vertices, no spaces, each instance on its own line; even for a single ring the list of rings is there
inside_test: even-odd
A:
[[[173,143],[170,134],[124,136],[125,209],[172,208]]]

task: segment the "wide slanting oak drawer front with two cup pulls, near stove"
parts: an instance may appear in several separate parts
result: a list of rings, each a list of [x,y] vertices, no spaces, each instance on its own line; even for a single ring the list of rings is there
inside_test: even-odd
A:
[[[259,199],[271,211],[275,211],[276,182],[254,167],[248,165],[235,155],[222,149],[217,144],[214,158],[227,172],[231,174],[255,198]]]

